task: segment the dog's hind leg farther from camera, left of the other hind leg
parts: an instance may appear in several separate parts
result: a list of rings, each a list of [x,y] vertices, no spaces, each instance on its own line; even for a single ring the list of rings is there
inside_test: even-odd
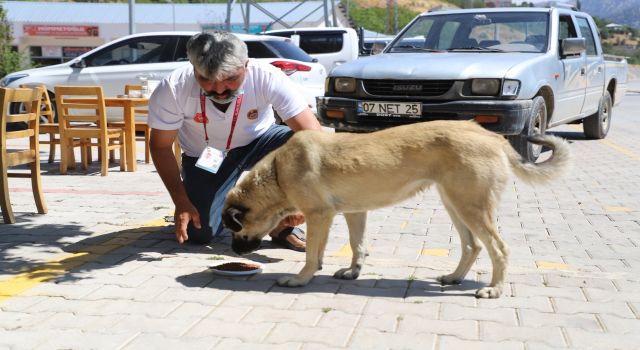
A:
[[[476,261],[478,254],[482,250],[482,246],[480,242],[473,237],[469,228],[460,220],[458,214],[455,209],[452,208],[449,203],[449,199],[446,194],[440,191],[440,197],[442,198],[442,202],[444,203],[444,207],[447,209],[449,213],[449,217],[451,217],[451,221],[453,222],[453,226],[458,231],[458,235],[460,236],[460,245],[462,247],[462,256],[460,257],[460,261],[458,262],[458,267],[456,267],[455,271],[448,275],[442,275],[437,278],[437,280],[444,284],[460,284],[464,277],[469,273],[471,266]]]

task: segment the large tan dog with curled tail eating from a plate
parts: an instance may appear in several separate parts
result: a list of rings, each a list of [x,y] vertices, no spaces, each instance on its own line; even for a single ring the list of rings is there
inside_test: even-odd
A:
[[[369,134],[297,132],[267,155],[227,195],[223,223],[234,231],[239,254],[257,249],[282,218],[301,211],[307,220],[306,264],[298,275],[278,280],[303,286],[321,268],[329,228],[344,213],[353,251],[351,266],[334,277],[355,279],[366,255],[367,211],[405,200],[435,184],[462,243],[456,270],[443,284],[464,279],[481,250],[493,265],[479,298],[497,298],[507,270],[508,249],[495,224],[495,211],[511,172],[528,182],[549,182],[568,165],[569,149],[554,136],[531,142],[553,150],[551,159],[523,163],[504,137],[469,121],[434,121]]]

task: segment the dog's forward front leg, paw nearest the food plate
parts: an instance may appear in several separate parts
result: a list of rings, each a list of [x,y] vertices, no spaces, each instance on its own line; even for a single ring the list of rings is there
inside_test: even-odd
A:
[[[278,285],[283,287],[302,287],[311,281],[322,263],[322,256],[334,215],[335,213],[312,215],[305,213],[307,220],[307,246],[305,249],[307,261],[297,275],[279,278]]]

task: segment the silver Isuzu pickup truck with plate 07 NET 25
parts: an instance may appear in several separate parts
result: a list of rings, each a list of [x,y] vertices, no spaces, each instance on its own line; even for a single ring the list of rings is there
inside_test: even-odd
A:
[[[582,123],[604,138],[626,90],[624,59],[604,58],[586,13],[561,8],[427,12],[382,54],[333,69],[317,99],[321,123],[372,131],[437,119],[474,119],[535,161],[527,137]]]

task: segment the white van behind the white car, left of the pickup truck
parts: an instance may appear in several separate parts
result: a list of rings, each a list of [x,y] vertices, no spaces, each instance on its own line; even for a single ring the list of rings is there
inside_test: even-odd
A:
[[[317,58],[327,72],[335,66],[355,60],[360,51],[358,33],[352,28],[290,28],[269,30],[262,34],[291,38],[311,57]]]

